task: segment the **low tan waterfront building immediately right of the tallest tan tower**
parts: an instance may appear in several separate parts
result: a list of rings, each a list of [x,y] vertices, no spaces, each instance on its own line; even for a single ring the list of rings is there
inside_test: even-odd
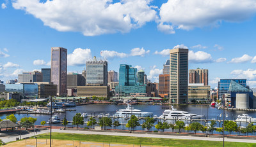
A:
[[[210,102],[211,86],[204,83],[188,84],[188,101]]]

